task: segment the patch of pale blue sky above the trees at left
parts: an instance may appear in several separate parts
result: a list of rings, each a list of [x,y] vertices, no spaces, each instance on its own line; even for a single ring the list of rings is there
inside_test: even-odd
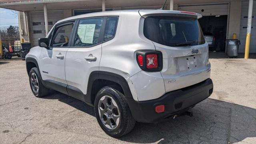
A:
[[[18,15],[15,15],[14,10],[0,8],[0,29],[7,28],[10,25],[18,26]]]

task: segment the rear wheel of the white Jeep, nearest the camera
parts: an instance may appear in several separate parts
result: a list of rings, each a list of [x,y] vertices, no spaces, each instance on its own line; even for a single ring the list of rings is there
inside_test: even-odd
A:
[[[135,125],[124,94],[112,87],[103,87],[96,95],[94,110],[97,121],[109,136],[120,137]]]

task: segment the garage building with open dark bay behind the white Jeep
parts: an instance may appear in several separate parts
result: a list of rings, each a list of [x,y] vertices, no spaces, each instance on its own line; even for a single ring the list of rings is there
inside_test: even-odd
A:
[[[0,7],[20,11],[20,38],[37,46],[52,26],[63,18],[108,10],[159,9],[165,0],[1,0]],[[233,34],[245,51],[248,0],[167,0],[165,10],[182,10],[202,14],[199,20],[204,34],[216,39],[213,49],[225,52],[225,40]],[[256,53],[256,2],[253,2],[250,52]],[[46,18],[46,19],[45,19]],[[45,21],[48,21],[48,24]],[[48,28],[48,30],[46,30]]]

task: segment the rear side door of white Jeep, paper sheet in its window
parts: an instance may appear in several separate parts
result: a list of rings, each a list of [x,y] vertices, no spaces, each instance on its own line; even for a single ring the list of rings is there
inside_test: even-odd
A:
[[[86,18],[76,22],[72,46],[66,54],[66,81],[70,96],[84,100],[89,75],[99,70],[105,17]]]

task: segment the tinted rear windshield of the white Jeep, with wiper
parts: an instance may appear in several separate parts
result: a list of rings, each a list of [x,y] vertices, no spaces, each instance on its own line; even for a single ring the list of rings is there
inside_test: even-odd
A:
[[[166,46],[204,44],[204,36],[196,18],[150,16],[144,20],[144,36]]]

